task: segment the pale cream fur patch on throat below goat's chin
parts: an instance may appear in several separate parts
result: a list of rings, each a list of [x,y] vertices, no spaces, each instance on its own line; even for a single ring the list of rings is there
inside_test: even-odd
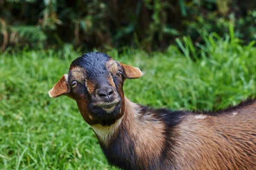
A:
[[[110,126],[102,126],[100,124],[92,125],[94,132],[99,137],[99,140],[108,143],[108,140],[113,136],[113,133],[118,129],[119,125],[122,122],[122,118],[118,119],[113,125]]]

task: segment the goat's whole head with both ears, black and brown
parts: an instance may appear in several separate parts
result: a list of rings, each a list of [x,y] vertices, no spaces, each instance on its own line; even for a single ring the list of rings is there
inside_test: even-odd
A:
[[[91,52],[75,59],[68,75],[49,91],[75,99],[84,120],[90,124],[111,125],[124,113],[123,81],[141,77],[139,68],[116,62],[108,54]]]

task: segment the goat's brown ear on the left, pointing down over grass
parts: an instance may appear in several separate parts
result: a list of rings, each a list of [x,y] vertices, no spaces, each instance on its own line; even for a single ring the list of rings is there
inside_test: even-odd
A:
[[[68,94],[70,92],[70,86],[68,84],[68,75],[64,74],[61,79],[53,86],[49,91],[49,96],[52,98]]]

